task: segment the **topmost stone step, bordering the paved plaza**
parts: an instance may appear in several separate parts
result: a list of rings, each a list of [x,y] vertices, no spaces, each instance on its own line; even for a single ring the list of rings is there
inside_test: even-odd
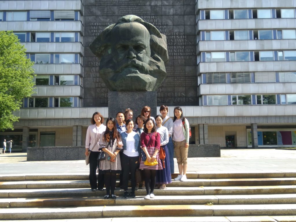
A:
[[[177,177],[178,174],[172,174],[172,178]],[[238,171],[238,172],[211,172],[197,171],[186,174],[189,179],[218,179],[218,178],[282,178],[282,177],[296,177],[296,170],[287,172],[280,171],[266,171],[266,170],[252,170],[252,171]],[[1,174],[0,181],[31,181],[31,180],[88,180],[88,173],[44,173],[44,174]]]

